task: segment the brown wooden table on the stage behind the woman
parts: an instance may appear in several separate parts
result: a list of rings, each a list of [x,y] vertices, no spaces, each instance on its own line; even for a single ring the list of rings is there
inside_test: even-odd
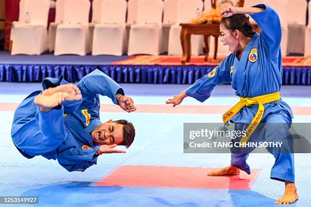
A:
[[[209,46],[208,37],[215,37],[214,59],[217,57],[218,37],[220,36],[219,23],[214,24],[179,24],[181,26],[180,42],[182,48],[181,63],[190,62],[191,58],[191,34],[201,34],[204,36],[204,43],[206,54],[204,60],[208,60]],[[260,27],[257,24],[253,24],[254,31],[261,32]]]

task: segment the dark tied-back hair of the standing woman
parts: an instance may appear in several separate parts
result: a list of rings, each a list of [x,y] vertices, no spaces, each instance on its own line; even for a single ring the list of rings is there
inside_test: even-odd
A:
[[[253,31],[253,26],[249,19],[250,17],[246,17],[245,14],[234,14],[230,17],[223,17],[221,24],[232,31],[239,30],[245,37],[253,37],[256,32]]]

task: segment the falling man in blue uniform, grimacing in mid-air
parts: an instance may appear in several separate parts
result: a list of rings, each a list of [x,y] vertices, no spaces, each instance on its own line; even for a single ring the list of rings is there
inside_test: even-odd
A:
[[[26,158],[42,155],[68,171],[84,171],[103,153],[125,153],[135,129],[126,120],[100,121],[99,94],[127,112],[136,110],[131,97],[110,77],[95,70],[74,86],[63,77],[46,78],[43,91],[25,98],[14,114],[11,136]]]

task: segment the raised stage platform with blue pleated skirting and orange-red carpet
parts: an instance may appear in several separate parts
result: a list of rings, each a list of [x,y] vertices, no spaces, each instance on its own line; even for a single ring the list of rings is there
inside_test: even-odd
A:
[[[77,82],[96,68],[118,83],[192,84],[221,61],[193,57],[182,65],[178,56],[14,55],[0,51],[0,81],[41,82],[63,75]],[[311,85],[311,57],[283,59],[283,85]]]

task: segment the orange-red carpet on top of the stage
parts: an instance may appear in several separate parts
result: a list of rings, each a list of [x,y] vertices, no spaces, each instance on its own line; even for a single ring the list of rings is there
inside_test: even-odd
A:
[[[171,55],[137,55],[128,59],[113,62],[114,65],[182,65],[181,56]],[[208,62],[204,61],[204,56],[192,56],[191,61],[185,65],[218,65],[224,57],[212,57]],[[311,57],[284,57],[283,66],[311,66]]]

